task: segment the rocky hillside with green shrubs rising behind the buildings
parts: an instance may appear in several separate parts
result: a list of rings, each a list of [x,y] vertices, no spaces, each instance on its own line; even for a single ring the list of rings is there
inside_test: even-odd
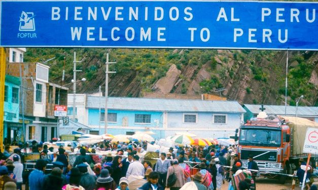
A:
[[[188,50],[188,49],[32,49],[25,61],[47,62],[50,80],[65,83],[73,79],[73,52],[77,52],[78,79],[86,78],[77,91],[98,92],[105,86],[106,53],[111,65],[109,95],[141,97],[144,92],[218,94],[241,103],[284,104],[286,51]],[[65,57],[65,65],[64,65]],[[302,105],[317,106],[318,53],[289,52],[288,104],[304,95]],[[72,89],[71,86],[69,86]]]

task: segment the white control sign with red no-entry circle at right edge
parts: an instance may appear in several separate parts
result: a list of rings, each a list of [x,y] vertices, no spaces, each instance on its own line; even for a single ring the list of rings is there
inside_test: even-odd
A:
[[[303,153],[318,155],[318,129],[307,128]]]

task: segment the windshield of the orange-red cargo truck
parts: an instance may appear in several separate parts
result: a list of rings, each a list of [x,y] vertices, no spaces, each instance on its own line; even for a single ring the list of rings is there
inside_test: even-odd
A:
[[[268,129],[241,129],[240,145],[280,146],[281,132]]]

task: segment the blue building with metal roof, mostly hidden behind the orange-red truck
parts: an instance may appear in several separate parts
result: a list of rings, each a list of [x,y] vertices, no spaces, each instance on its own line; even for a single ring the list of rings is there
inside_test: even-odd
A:
[[[244,113],[244,121],[257,117],[261,111],[261,105],[258,104],[244,104],[246,112]],[[264,105],[265,112],[268,116],[277,115],[285,116],[285,105]],[[288,105],[286,107],[286,116],[296,116],[296,106]],[[297,117],[305,118],[313,122],[318,122],[318,107],[314,106],[298,106]]]

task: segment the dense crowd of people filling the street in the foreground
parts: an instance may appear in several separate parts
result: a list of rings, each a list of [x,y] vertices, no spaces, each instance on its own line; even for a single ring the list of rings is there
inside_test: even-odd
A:
[[[79,146],[72,149],[79,155],[71,162],[64,147],[55,152],[34,143],[32,149],[40,156],[24,178],[20,148],[10,154],[6,146],[6,159],[0,161],[0,190],[22,189],[22,182],[31,190],[220,190],[225,180],[228,189],[256,189],[257,163],[250,156],[248,166],[242,168],[235,145],[174,146],[155,153],[155,160],[144,157],[146,146],[143,142],[109,141]],[[96,150],[112,153],[101,156],[94,154]],[[48,163],[52,165],[49,173]]]

